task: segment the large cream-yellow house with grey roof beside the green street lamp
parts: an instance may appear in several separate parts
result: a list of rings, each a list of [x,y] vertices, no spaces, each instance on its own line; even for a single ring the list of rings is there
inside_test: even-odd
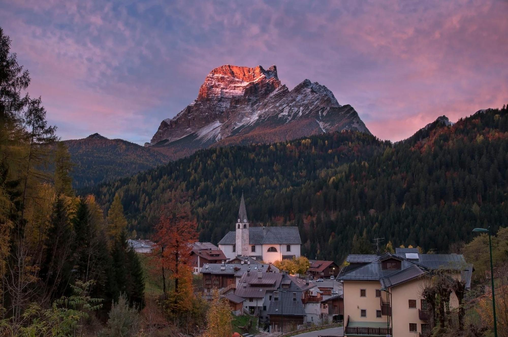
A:
[[[436,271],[450,273],[469,289],[472,265],[458,254],[419,254],[397,248],[395,254],[349,255],[339,275],[343,282],[344,336],[413,337],[429,331],[421,293]],[[450,306],[458,307],[452,292]],[[395,319],[393,319],[395,317]]]

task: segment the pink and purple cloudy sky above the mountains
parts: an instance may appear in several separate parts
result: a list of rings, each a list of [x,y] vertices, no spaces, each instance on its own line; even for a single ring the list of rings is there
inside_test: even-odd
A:
[[[506,0],[0,0],[0,26],[62,139],[149,142],[223,64],[319,82],[392,141],[508,103]]]

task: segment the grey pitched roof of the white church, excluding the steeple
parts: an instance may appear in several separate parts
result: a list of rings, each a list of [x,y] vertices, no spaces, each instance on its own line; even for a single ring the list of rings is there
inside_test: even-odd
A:
[[[234,230],[224,235],[219,245],[236,244]],[[301,245],[298,227],[249,227],[249,245]]]

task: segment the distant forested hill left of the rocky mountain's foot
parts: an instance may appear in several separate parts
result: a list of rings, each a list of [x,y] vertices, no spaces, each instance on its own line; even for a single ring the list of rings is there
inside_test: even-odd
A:
[[[77,189],[131,176],[169,161],[160,152],[98,133],[63,143],[74,163],[71,175],[73,187]]]

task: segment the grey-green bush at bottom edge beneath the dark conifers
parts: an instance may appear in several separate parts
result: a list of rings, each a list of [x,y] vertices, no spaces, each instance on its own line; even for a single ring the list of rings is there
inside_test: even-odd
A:
[[[116,303],[113,303],[109,312],[107,327],[101,332],[103,337],[133,337],[140,326],[140,317],[135,307],[129,307],[125,294],[121,294]]]

